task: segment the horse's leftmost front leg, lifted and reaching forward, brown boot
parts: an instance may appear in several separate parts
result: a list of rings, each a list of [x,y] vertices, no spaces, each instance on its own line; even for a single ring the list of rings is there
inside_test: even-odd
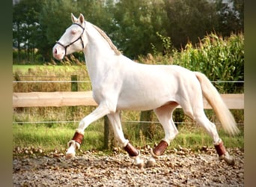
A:
[[[106,114],[109,114],[109,108],[107,108],[106,105],[99,105],[93,112],[91,112],[91,114],[88,114],[88,116],[80,121],[79,127],[76,129],[72,140],[67,143],[68,149],[65,156],[66,159],[76,156],[76,150],[79,149],[80,144],[82,144],[85,129],[95,120],[100,119]]]

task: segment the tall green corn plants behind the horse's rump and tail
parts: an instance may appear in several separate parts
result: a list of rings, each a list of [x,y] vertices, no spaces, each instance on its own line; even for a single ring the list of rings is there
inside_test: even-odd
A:
[[[243,81],[244,36],[231,34],[223,38],[208,34],[198,46],[187,43],[181,52],[175,52],[173,63],[204,73],[222,93],[243,93],[243,83],[218,81]],[[236,84],[236,85],[235,85]]]

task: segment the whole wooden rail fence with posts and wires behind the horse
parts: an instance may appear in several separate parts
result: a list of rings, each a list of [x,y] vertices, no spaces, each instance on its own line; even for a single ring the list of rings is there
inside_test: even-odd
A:
[[[13,81],[13,83],[31,82],[31,81]],[[37,81],[44,82],[44,81]],[[64,82],[64,81],[61,81]],[[55,92],[28,92],[28,93],[13,93],[13,108],[19,107],[47,107],[47,106],[96,106],[92,91],[78,91],[78,82],[76,76],[71,76],[71,91],[55,91]],[[244,108],[244,94],[221,94],[222,99],[230,109]],[[180,108],[180,105],[177,107]],[[211,106],[204,99],[204,108],[210,109]],[[73,121],[74,122],[74,121]],[[132,122],[132,121],[128,121]],[[153,123],[150,121],[135,121],[135,123]],[[20,123],[20,122],[13,122]],[[25,122],[29,123],[29,122]],[[49,123],[49,122],[33,122],[33,123]],[[59,121],[51,121],[51,123],[60,123]],[[63,121],[61,123],[68,123]],[[109,121],[104,117],[104,147],[109,147]]]

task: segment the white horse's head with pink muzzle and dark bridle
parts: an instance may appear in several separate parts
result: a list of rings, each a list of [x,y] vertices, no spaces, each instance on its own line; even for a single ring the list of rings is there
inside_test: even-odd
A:
[[[73,24],[66,29],[60,40],[52,48],[53,57],[57,60],[61,60],[65,55],[81,51],[86,46],[87,40],[84,36],[85,17],[80,13],[79,18],[76,18],[71,13],[71,19]]]

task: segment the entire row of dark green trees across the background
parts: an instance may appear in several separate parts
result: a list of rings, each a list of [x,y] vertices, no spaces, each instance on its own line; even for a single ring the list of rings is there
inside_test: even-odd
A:
[[[25,51],[26,60],[33,60],[39,49],[49,61],[55,40],[71,24],[70,13],[83,13],[129,58],[153,50],[165,54],[161,38],[171,38],[180,49],[212,31],[223,36],[243,31],[243,7],[243,0],[21,0],[13,5],[13,46],[18,57]]]

